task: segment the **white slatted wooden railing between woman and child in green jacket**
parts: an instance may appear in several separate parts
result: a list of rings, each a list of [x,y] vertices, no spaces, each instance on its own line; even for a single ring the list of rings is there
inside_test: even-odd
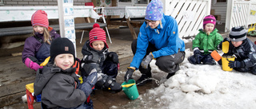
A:
[[[179,37],[191,37],[202,29],[202,19],[210,14],[210,0],[162,0],[164,13],[178,22]]]

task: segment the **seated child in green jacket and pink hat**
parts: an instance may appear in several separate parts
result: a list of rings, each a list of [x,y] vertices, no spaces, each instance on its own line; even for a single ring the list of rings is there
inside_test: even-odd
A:
[[[218,49],[223,37],[218,33],[215,24],[216,19],[213,15],[203,19],[203,29],[199,29],[199,33],[193,40],[194,55],[188,57],[191,64],[216,64],[210,53]]]

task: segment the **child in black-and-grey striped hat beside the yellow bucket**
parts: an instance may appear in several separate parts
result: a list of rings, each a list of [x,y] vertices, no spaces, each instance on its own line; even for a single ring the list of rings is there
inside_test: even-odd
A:
[[[235,60],[229,63],[230,68],[238,72],[252,72],[256,75],[256,45],[246,37],[246,29],[243,27],[234,27],[230,30],[230,38],[226,37],[224,41],[229,41],[229,51],[223,56],[235,56]],[[220,43],[219,48],[222,48]],[[222,60],[218,60],[222,65]]]

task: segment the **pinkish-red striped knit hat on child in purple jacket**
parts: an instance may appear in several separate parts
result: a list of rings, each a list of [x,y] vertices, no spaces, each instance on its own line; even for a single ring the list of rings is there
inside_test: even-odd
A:
[[[48,21],[46,12],[43,10],[35,11],[31,17],[31,24],[32,24],[32,26],[41,25],[43,27],[48,28],[49,21]]]

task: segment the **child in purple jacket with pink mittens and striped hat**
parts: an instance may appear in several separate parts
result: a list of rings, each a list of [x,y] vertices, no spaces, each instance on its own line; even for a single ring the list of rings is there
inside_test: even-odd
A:
[[[26,38],[22,51],[22,62],[26,67],[34,69],[42,68],[40,64],[50,56],[50,43],[60,35],[49,26],[47,14],[43,10],[37,10],[31,17],[33,36]]]

